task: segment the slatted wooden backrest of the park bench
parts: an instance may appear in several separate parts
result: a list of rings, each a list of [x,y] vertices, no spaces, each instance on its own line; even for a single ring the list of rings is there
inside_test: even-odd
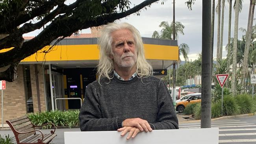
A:
[[[35,134],[35,131],[33,131],[35,130],[35,128],[33,127],[33,124],[31,123],[30,119],[28,119],[28,116],[22,116],[12,120],[6,120],[6,122],[10,126],[11,130],[13,131],[18,143],[24,138],[27,138]],[[17,132],[28,132],[28,131],[33,131],[33,132],[26,133],[26,134],[19,134],[19,135],[17,133]]]

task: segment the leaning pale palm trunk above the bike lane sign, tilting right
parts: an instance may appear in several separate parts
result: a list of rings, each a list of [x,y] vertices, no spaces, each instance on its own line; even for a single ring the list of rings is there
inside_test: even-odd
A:
[[[255,0],[253,0],[253,1],[254,1],[254,3],[252,2],[252,0],[250,0],[248,24],[247,24],[247,31],[246,31],[246,38],[245,38],[245,52],[244,52],[244,56],[243,56],[242,82],[243,82],[244,88],[245,88],[245,79],[247,78],[246,71],[248,68],[248,54],[249,54],[249,49],[250,49],[250,40],[252,37],[252,24],[253,24]]]

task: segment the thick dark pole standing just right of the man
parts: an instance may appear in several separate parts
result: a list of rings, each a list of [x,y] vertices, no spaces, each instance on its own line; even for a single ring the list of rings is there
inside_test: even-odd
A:
[[[201,128],[211,127],[211,1],[202,0]]]

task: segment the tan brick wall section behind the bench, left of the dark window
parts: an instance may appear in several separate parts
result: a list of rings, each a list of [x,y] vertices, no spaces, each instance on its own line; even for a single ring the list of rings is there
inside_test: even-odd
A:
[[[14,82],[6,81],[4,90],[4,123],[6,120],[24,116],[26,114],[25,91],[22,74],[22,65],[17,70],[18,78]],[[0,103],[0,115],[2,115],[2,103]],[[0,116],[2,121],[2,116]]]

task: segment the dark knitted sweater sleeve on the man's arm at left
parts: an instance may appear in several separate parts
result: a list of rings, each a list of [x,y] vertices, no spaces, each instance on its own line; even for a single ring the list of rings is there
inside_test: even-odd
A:
[[[120,128],[119,117],[102,118],[98,94],[89,84],[85,90],[85,99],[79,113],[81,131],[115,131]]]

